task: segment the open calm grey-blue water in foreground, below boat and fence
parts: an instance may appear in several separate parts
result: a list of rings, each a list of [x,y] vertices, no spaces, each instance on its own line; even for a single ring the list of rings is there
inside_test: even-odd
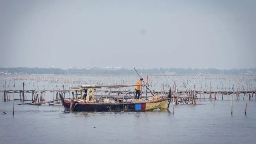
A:
[[[1,144],[253,144],[256,101],[205,101],[148,112],[64,112],[1,102]],[[4,114],[3,112],[7,113]]]

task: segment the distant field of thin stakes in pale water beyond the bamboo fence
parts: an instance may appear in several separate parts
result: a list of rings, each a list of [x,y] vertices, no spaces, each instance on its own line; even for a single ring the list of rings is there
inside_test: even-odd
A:
[[[176,86],[181,90],[186,90],[192,83],[195,76],[151,76],[149,83],[154,89],[160,88],[161,91],[169,89],[176,81]],[[17,87],[19,83],[25,82],[31,85],[33,89],[43,87],[61,88],[62,85],[68,87],[76,87],[82,84],[98,84],[98,85],[123,85],[134,83],[138,80],[137,76],[109,76],[109,75],[4,75],[1,76],[1,89],[6,87]],[[240,91],[253,90],[256,85],[256,76],[208,76],[202,75],[195,83],[197,89],[210,91],[232,90],[237,88]],[[20,85],[22,89],[22,85]]]

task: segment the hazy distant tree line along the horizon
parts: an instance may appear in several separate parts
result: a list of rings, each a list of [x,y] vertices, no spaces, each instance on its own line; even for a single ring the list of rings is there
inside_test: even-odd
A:
[[[0,68],[2,73],[17,73],[17,74],[136,74],[134,69],[60,69],[60,68]],[[199,74],[201,69],[191,69],[191,68],[152,68],[152,69],[137,69],[137,72],[143,74],[154,74],[154,75],[166,75],[168,72],[173,72],[176,75],[194,75]],[[175,73],[174,73],[175,72]],[[248,73],[249,72],[249,73]],[[206,69],[203,74],[256,74],[256,68],[250,69],[229,69],[229,70],[219,70],[219,69]]]

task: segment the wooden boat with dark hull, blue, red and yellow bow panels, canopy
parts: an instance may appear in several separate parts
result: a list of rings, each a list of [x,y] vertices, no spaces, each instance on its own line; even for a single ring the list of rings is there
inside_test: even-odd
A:
[[[146,84],[137,84],[146,86]],[[95,99],[94,92],[96,88],[121,88],[137,85],[82,85],[78,88],[71,88],[76,91],[74,99],[67,100],[59,94],[62,104],[66,110],[70,111],[146,111],[153,109],[166,109],[169,102],[161,96],[151,96],[148,99]],[[87,90],[87,99],[84,99],[82,92]],[[80,94],[78,92],[80,91]],[[121,91],[121,90],[120,90]],[[80,99],[79,96],[80,95]],[[119,96],[120,97],[120,96]]]

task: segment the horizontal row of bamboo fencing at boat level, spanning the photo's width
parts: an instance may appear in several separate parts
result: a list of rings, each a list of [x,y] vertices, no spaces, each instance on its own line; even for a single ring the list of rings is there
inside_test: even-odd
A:
[[[179,91],[177,89],[177,93],[175,92],[177,88],[175,88],[175,86],[173,86],[173,90],[172,91],[172,95],[174,96],[174,101],[175,103],[179,104],[179,103],[186,103],[187,100],[185,99],[200,99],[200,100],[205,100],[205,99],[217,99],[217,97],[220,97],[219,95],[222,96],[222,100],[224,95],[230,95],[230,94],[236,94],[236,99],[240,100],[241,98],[241,94],[243,96],[243,100],[245,100],[245,96],[248,95],[249,100],[253,100],[253,95],[255,95],[256,90],[255,91],[236,91],[236,92],[232,92],[232,91],[195,91],[195,90],[191,90],[191,91]],[[52,101],[55,100],[59,100],[58,97],[58,93],[62,93],[65,97],[65,94],[68,93],[69,94],[69,99],[74,98],[75,95],[75,90],[1,90],[1,93],[3,93],[3,97],[2,100],[3,101],[9,101],[10,99],[10,93],[19,93],[19,99],[13,99],[13,100],[20,100],[20,101],[32,101],[32,102],[44,102],[46,101],[46,93],[52,93]],[[32,93],[32,100],[27,99],[27,96],[24,93]],[[96,90],[95,91],[95,96],[99,97],[101,96],[104,97],[106,95],[109,95],[110,97],[114,97],[114,96],[119,96],[121,94],[126,94],[127,97],[133,97],[134,96],[134,91],[133,90]],[[142,94],[145,94],[146,91],[142,90]],[[39,96],[40,94],[40,96]],[[97,95],[99,94],[99,95]],[[114,95],[115,94],[115,95]],[[150,93],[148,93],[149,96],[151,96]],[[153,90],[153,94],[155,95],[161,95],[163,97],[167,97],[168,95],[168,91],[155,91]],[[197,97],[197,94],[200,94],[200,98]],[[209,97],[206,97],[206,94],[209,95]],[[180,101],[178,101],[177,99],[180,99]],[[220,99],[220,98],[219,98]],[[173,100],[173,99],[172,99]],[[255,100],[256,100],[256,96],[255,96]],[[190,100],[189,100],[190,101]],[[179,103],[178,103],[179,102]],[[192,103],[192,102],[189,102]],[[194,102],[196,103],[196,102]],[[187,104],[187,103],[186,103]]]

